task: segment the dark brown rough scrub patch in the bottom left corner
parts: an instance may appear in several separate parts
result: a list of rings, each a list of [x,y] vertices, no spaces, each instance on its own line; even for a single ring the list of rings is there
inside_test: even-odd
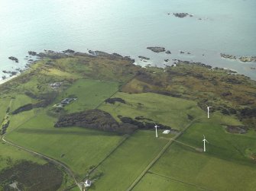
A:
[[[54,164],[36,164],[31,161],[21,161],[13,167],[0,171],[0,189],[14,190],[11,183],[17,182],[21,190],[48,190],[60,188],[63,173]]]

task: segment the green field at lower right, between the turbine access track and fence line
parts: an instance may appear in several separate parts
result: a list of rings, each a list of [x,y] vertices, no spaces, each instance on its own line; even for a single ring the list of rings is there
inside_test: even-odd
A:
[[[177,180],[212,190],[254,190],[256,186],[256,168],[253,165],[215,158],[209,154],[191,151],[177,143],[152,167],[151,173],[158,174],[157,177],[162,176],[164,180]],[[150,183],[152,178],[141,180],[141,184],[145,186]],[[158,190],[163,189],[159,185]]]

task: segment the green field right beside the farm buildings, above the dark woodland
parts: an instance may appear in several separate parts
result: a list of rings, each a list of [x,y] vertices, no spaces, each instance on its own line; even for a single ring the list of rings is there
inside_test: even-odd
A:
[[[68,113],[95,109],[105,99],[118,91],[118,82],[81,79],[57,97],[56,103],[66,97],[77,97],[67,105]]]

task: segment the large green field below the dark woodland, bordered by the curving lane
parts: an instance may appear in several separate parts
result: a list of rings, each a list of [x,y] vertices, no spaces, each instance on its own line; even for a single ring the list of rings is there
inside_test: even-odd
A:
[[[62,161],[79,178],[83,178],[89,167],[97,165],[105,158],[122,141],[123,137],[107,132],[75,127],[66,129],[53,129],[53,127],[39,129],[37,127],[37,129],[30,129],[28,126],[28,128],[20,127],[11,132],[7,138],[25,148]]]

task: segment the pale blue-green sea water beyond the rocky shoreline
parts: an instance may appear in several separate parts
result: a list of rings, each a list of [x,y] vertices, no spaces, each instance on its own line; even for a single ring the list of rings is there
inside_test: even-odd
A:
[[[256,62],[220,57],[256,56],[255,8],[255,0],[0,0],[0,79],[2,70],[24,68],[28,51],[44,49],[102,50],[131,56],[139,65],[204,62],[256,79]],[[176,18],[176,12],[193,17]]]

